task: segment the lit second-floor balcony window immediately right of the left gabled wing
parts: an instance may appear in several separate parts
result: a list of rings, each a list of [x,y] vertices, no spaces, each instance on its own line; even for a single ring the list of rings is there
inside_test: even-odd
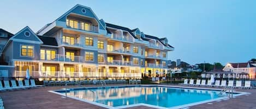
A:
[[[55,57],[56,57],[55,50],[45,50],[45,49],[40,50],[40,59],[41,60],[54,60]]]

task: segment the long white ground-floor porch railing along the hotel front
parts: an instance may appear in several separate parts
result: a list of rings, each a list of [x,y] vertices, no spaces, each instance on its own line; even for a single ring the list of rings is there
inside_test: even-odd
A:
[[[140,73],[103,73],[103,72],[43,72],[32,71],[29,72],[32,78],[131,78],[141,77]],[[26,77],[26,71],[15,70],[14,77]]]

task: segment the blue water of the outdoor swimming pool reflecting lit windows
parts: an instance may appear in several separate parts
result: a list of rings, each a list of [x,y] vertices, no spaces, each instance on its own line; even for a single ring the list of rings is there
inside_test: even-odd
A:
[[[65,95],[65,91],[55,91]],[[209,89],[175,88],[164,86],[119,86],[71,88],[68,97],[74,97],[86,102],[97,102],[107,108],[124,108],[138,104],[156,108],[187,107],[188,104],[209,102],[224,99],[219,97],[220,91]],[[239,93],[234,93],[236,96]],[[97,105],[97,104],[96,104]],[[186,106],[187,105],[187,106]]]

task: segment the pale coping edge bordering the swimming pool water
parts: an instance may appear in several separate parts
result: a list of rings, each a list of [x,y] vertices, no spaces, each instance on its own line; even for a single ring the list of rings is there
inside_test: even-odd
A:
[[[129,85],[129,86],[109,86],[109,87],[131,87],[131,86],[136,87],[134,85]],[[138,86],[146,86],[146,87],[158,86],[158,87],[171,87],[171,88],[205,89],[205,90],[211,90],[211,91],[221,91],[222,90],[222,89],[216,89],[216,88],[199,88],[199,87],[167,86],[167,85],[138,85]],[[76,88],[78,88],[78,87],[76,87]],[[81,87],[81,88],[85,88],[85,87]],[[86,87],[86,88],[96,88],[96,87]],[[60,91],[60,90],[61,89],[53,90],[53,91],[48,91],[48,92],[55,93],[55,94],[58,94],[58,95],[62,95],[63,97],[66,97],[66,94],[62,94],[62,93],[56,92],[56,91]],[[239,93],[239,94],[233,95],[233,97],[237,97],[237,96],[240,96],[240,95],[251,94],[251,93],[248,93],[248,92],[236,92],[236,91],[233,92],[233,93]],[[89,100],[86,100],[86,99],[76,98],[76,97],[69,96],[69,95],[67,95],[67,97],[75,99],[75,100],[79,100],[79,101],[84,101],[84,102],[87,102],[87,103],[92,104],[92,105],[97,105],[97,106],[100,106],[100,107],[111,108],[111,109],[120,109],[120,108],[128,108],[128,107],[135,107],[135,106],[147,106],[147,107],[163,108],[163,109],[176,109],[176,108],[185,108],[185,107],[190,107],[190,106],[194,106],[194,105],[200,105],[200,104],[204,104],[204,103],[207,103],[207,102],[213,102],[213,101],[217,101],[217,100],[229,99],[229,97],[220,97],[220,98],[216,98],[216,99],[210,99],[210,100],[204,100],[204,101],[199,101],[199,102],[193,102],[193,103],[190,103],[190,104],[178,105],[178,106],[173,106],[173,107],[162,107],[162,106],[155,106],[155,105],[150,105],[150,104],[145,104],[145,103],[139,103],[139,104],[132,104],[132,105],[124,105],[124,106],[116,106],[116,107],[114,107],[114,106],[108,106],[108,105],[100,104],[100,103],[94,102],[94,101],[89,101]]]

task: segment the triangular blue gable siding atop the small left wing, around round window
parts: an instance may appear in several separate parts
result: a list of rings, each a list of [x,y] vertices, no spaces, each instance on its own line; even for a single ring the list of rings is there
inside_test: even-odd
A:
[[[30,33],[30,36],[29,36],[29,37],[27,37],[27,36],[24,35],[24,33],[25,33],[26,31],[29,31],[29,33]],[[21,31],[21,33],[17,34],[17,35],[16,35],[15,37],[13,37],[13,38],[14,38],[14,39],[30,40],[30,41],[38,41],[38,42],[40,42],[40,40],[38,40],[38,37],[33,34],[33,31],[30,31],[28,28],[26,28],[25,30]]]

